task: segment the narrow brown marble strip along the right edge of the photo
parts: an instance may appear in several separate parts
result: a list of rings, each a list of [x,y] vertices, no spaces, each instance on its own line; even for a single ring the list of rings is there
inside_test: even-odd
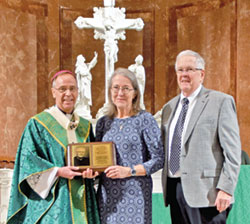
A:
[[[236,100],[240,123],[242,148],[250,156],[250,2],[237,2]]]

